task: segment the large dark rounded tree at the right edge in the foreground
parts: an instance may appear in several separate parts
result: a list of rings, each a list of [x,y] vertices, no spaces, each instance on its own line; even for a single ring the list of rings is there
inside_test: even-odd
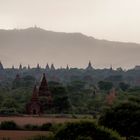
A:
[[[140,105],[134,102],[118,104],[105,111],[99,123],[123,136],[140,136]]]

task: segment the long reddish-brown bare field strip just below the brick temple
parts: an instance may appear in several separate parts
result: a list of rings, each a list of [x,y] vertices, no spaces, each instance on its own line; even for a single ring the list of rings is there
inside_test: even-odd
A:
[[[25,117],[0,117],[0,122],[2,121],[14,121],[19,126],[24,126],[26,124],[34,124],[34,125],[42,125],[43,123],[63,123],[63,122],[71,122],[76,121],[77,119],[73,118],[55,118],[55,117],[33,117],[33,116],[25,116]]]

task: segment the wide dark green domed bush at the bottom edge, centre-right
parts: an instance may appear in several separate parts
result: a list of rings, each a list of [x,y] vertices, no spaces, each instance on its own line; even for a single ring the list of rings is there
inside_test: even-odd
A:
[[[80,121],[65,124],[56,134],[56,140],[122,140],[118,133],[98,126],[93,121]]]

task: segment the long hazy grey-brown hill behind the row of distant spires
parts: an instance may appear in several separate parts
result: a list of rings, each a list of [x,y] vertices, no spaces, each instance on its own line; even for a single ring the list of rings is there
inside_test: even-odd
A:
[[[0,59],[5,65],[54,62],[132,67],[140,64],[140,44],[99,40],[81,33],[47,31],[41,28],[0,30]]]

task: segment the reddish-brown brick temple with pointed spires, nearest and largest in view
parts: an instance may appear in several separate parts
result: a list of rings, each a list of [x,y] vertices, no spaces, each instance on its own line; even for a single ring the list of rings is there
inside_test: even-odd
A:
[[[52,95],[48,89],[48,83],[45,73],[43,74],[39,88],[37,89],[36,86],[34,87],[32,98],[26,106],[26,111],[28,114],[40,115],[44,112],[44,103],[40,101],[40,97],[44,99],[46,99],[45,97],[47,97],[45,105],[47,105],[48,107],[52,105]]]

